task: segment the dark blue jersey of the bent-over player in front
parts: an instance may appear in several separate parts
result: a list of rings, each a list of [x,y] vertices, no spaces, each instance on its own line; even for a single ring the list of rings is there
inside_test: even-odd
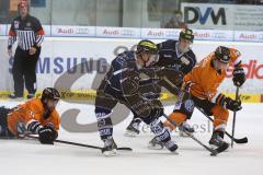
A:
[[[112,61],[99,91],[130,105],[144,101],[144,97],[138,92],[140,69],[140,66],[136,62],[134,51],[119,54]]]

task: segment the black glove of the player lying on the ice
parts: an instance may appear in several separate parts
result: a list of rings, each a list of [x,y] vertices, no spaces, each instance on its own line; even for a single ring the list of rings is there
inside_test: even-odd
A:
[[[54,144],[54,133],[53,130],[44,126],[38,130],[38,140],[43,144]]]

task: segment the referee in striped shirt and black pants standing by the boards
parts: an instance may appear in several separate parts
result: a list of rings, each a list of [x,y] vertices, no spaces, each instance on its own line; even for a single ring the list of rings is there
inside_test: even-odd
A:
[[[18,40],[18,47],[13,60],[14,93],[10,98],[23,97],[24,84],[28,91],[27,98],[35,96],[36,92],[36,63],[41,55],[41,44],[44,39],[44,31],[41,22],[30,15],[27,0],[19,3],[19,16],[12,21],[9,31],[8,52],[12,56],[12,45]]]

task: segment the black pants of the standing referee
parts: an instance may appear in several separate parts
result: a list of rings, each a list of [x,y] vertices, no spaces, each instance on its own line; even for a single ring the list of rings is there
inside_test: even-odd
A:
[[[13,61],[13,81],[14,94],[23,96],[24,83],[30,94],[36,92],[36,63],[41,55],[41,48],[36,49],[34,55],[30,55],[28,50],[16,48]]]

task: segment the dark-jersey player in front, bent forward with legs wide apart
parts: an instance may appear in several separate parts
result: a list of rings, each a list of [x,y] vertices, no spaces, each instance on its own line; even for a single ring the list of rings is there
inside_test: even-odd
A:
[[[101,82],[95,98],[98,128],[104,142],[103,154],[116,155],[117,145],[113,139],[111,113],[117,103],[125,104],[136,116],[149,125],[157,139],[168,150],[174,152],[178,149],[178,145],[171,140],[170,132],[159,120],[163,108],[160,108],[155,102],[146,100],[138,91],[140,71],[157,61],[158,48],[150,40],[139,42],[136,51],[125,51],[112,61],[111,69]]]

